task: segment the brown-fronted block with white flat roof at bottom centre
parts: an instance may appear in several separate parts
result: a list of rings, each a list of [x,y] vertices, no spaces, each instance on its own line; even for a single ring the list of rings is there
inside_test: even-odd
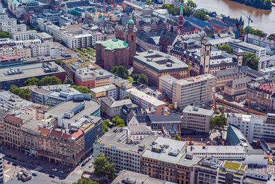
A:
[[[185,142],[158,137],[141,157],[141,173],[174,183],[190,183],[190,166],[197,156],[185,154]]]

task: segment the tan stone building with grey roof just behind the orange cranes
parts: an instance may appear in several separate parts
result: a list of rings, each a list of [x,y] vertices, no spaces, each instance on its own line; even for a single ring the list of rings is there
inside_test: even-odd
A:
[[[248,84],[251,82],[249,77],[234,79],[224,87],[224,94],[234,101],[243,101],[246,97]]]

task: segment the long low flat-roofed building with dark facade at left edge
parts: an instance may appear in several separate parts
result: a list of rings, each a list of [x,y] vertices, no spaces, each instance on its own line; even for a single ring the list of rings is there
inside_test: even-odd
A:
[[[20,68],[5,68],[0,70],[0,89],[9,90],[10,85],[23,87],[27,79],[44,76],[57,76],[61,81],[65,80],[65,70],[54,62],[24,65]]]

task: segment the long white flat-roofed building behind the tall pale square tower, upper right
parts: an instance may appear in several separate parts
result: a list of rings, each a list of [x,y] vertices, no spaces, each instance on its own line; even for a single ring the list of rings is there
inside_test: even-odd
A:
[[[252,45],[250,43],[243,42],[241,40],[232,39],[232,38],[222,38],[222,39],[212,39],[208,41],[212,47],[217,47],[219,45],[227,44],[232,48],[239,48],[245,52],[252,52],[256,54],[256,57],[264,57],[266,55],[266,48],[262,48],[257,45]]]

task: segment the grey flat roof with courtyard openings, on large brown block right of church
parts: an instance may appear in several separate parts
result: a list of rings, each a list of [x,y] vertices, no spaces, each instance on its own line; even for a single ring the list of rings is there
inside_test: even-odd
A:
[[[149,50],[140,52],[133,58],[134,61],[146,65],[157,72],[169,72],[174,70],[188,70],[188,65],[183,61],[164,52]]]

